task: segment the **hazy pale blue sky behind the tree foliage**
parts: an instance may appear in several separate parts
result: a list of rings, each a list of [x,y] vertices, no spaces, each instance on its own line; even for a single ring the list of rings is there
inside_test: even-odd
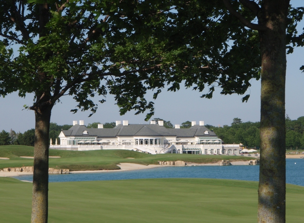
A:
[[[286,114],[291,119],[304,116],[304,74],[299,68],[304,65],[304,49],[297,48],[293,54],[287,55],[286,74]],[[155,103],[155,115],[152,118],[163,118],[172,124],[181,124],[184,121],[205,121],[205,124],[215,126],[230,125],[233,118],[241,118],[243,122],[260,121],[260,81],[252,80],[252,86],[247,93],[250,98],[247,103],[242,103],[241,95],[220,95],[220,88],[216,88],[212,99],[200,98],[200,92],[184,89],[178,92],[159,94]],[[246,93],[246,94],[247,94]],[[0,98],[0,131],[2,129],[24,132],[35,127],[34,111],[23,110],[23,105],[31,105],[33,95],[25,99],[12,93],[5,98]],[[97,96],[96,101],[100,100]],[[97,113],[88,118],[90,111],[72,114],[76,103],[70,96],[61,97],[61,102],[52,110],[51,122],[57,124],[72,124],[73,120],[84,120],[85,125],[92,122],[115,122],[116,120],[129,120],[131,124],[145,123],[145,114],[134,115],[130,111],[124,116],[119,115],[119,108],[115,105],[112,96],[108,95],[106,102],[99,105]],[[152,94],[147,95],[147,101],[153,101]]]

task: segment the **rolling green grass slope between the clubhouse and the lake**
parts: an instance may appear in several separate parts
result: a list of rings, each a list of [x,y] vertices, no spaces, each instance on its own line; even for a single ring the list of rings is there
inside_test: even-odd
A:
[[[137,163],[143,165],[158,164],[157,161],[186,161],[196,163],[210,163],[220,160],[252,160],[251,157],[222,156],[222,155],[191,155],[191,154],[157,154],[151,155],[130,150],[93,150],[93,151],[67,151],[49,150],[49,167],[72,170],[119,169],[118,163]],[[33,160],[20,158],[20,156],[34,156],[31,146],[9,145],[0,146],[0,157],[10,160],[0,160],[0,169],[7,167],[32,166]],[[135,159],[126,159],[128,157]]]

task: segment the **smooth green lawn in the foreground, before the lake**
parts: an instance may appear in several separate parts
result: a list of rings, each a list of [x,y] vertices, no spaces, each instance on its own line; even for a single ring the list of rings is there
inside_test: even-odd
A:
[[[49,222],[235,223],[257,221],[258,182],[139,179],[49,184]],[[0,217],[30,222],[32,183],[0,178]],[[286,222],[304,222],[304,187],[287,185]]]

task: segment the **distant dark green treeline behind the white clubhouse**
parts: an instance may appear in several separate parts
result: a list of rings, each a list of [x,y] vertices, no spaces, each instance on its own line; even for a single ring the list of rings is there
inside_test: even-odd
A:
[[[161,118],[154,118],[156,123]],[[173,128],[170,121],[164,121],[164,127]],[[97,128],[100,122],[93,122],[87,125],[88,128]],[[106,122],[103,128],[114,128],[115,122]],[[240,118],[234,118],[230,126],[224,125],[217,127],[212,125],[205,125],[211,131],[214,131],[217,136],[222,139],[223,144],[239,144],[253,148],[260,147],[260,122],[242,122]],[[72,125],[57,125],[57,123],[50,123],[50,136],[53,144],[60,144],[59,134],[61,130],[68,130]],[[186,121],[180,125],[181,128],[190,128],[191,122]],[[291,120],[288,115],[286,116],[286,149],[302,149],[304,148],[304,116],[299,117],[297,120]],[[35,129],[30,129],[24,133],[16,133],[11,129],[10,132],[2,130],[0,132],[0,145],[27,145],[34,146]]]

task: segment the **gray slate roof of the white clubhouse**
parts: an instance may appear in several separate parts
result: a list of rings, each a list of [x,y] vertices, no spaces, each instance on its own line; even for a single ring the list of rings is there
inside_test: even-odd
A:
[[[88,134],[83,134],[87,131]],[[205,134],[209,132],[209,135]],[[117,125],[112,129],[95,129],[86,126],[74,125],[69,130],[62,131],[65,136],[94,136],[99,138],[115,138],[122,136],[173,136],[178,138],[193,138],[202,136],[217,136],[205,126],[194,125],[188,129],[167,129],[158,124],[129,124]]]

